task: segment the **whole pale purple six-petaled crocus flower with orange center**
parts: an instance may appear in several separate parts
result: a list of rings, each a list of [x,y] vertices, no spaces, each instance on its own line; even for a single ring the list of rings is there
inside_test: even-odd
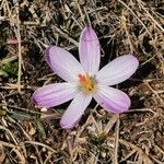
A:
[[[60,47],[47,48],[46,61],[66,82],[48,84],[33,94],[34,103],[43,107],[57,106],[73,98],[60,120],[65,129],[75,126],[92,97],[107,112],[119,114],[127,110],[130,98],[110,85],[130,78],[139,66],[134,56],[125,55],[98,70],[99,42],[92,27],[85,27],[81,33],[79,55],[81,63]]]

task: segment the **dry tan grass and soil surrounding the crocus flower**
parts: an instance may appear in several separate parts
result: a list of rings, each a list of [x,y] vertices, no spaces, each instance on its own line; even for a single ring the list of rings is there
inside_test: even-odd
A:
[[[0,163],[164,163],[162,4],[160,0],[1,0],[0,69],[11,61],[17,71],[0,74]],[[140,67],[119,85],[132,99],[129,112],[117,116],[93,103],[68,132],[59,127],[68,104],[44,112],[31,95],[60,81],[44,61],[46,45],[78,57],[80,32],[87,24],[101,40],[101,66],[134,54]]]

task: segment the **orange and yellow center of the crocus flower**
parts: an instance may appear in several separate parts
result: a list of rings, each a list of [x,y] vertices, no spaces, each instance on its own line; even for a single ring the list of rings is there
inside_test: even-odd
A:
[[[82,85],[84,92],[92,92],[95,89],[95,82],[89,74],[79,74],[79,82]]]

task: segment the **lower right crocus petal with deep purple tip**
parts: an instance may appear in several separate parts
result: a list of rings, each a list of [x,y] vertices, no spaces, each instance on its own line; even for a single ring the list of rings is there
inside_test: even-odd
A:
[[[128,110],[131,104],[126,93],[103,84],[98,84],[93,97],[104,109],[117,114]]]

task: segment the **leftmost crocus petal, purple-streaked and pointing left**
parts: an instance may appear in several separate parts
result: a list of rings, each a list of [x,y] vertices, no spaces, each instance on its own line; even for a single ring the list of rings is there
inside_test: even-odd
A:
[[[52,107],[72,99],[79,93],[77,84],[55,83],[34,92],[32,99],[36,105]]]

